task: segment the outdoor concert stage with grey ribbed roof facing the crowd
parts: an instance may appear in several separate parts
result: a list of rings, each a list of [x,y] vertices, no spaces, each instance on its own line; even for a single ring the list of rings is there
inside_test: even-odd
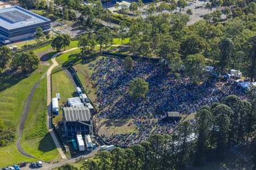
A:
[[[76,137],[77,133],[92,134],[92,118],[89,108],[64,107],[63,125],[65,136],[68,138]]]

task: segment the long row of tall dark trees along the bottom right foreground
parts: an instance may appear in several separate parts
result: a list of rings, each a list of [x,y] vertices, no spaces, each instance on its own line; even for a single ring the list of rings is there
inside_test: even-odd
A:
[[[173,134],[156,134],[139,145],[100,151],[81,169],[187,169],[209,160],[224,160],[230,147],[249,139],[250,154],[255,154],[254,100],[227,96],[221,103],[202,107],[196,113],[196,124],[183,121]]]

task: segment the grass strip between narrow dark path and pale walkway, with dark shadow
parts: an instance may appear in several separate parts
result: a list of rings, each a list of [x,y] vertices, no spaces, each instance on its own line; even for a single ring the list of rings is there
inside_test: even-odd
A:
[[[22,146],[25,151],[38,159],[49,161],[53,158],[60,160],[59,152],[48,133],[46,126],[47,111],[46,78],[40,82],[32,97],[27,121],[24,125]]]

